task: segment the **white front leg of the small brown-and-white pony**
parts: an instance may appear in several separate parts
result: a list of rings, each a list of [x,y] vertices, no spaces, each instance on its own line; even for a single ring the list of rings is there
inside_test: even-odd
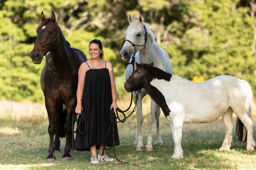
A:
[[[170,124],[171,125],[171,124]],[[183,158],[183,150],[182,150],[182,128],[183,121],[179,119],[172,119],[171,131],[174,142],[174,153],[171,156],[173,159],[182,159]]]

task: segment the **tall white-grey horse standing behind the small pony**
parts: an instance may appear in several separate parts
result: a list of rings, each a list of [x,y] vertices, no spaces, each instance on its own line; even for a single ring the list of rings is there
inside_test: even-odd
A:
[[[129,15],[129,27],[125,31],[125,41],[122,49],[120,50],[120,57],[124,62],[132,62],[134,55],[135,61],[137,63],[151,63],[154,62],[156,67],[173,74],[171,62],[168,53],[160,48],[155,41],[154,34],[149,29],[146,23],[143,22],[143,18],[139,15],[138,20],[133,20],[131,14]],[[138,53],[136,53],[138,51]],[[134,67],[135,68],[135,67]],[[128,79],[133,72],[133,66],[131,64],[127,65],[125,72],[125,79]],[[143,150],[143,136],[142,136],[142,124],[143,124],[143,114],[142,114],[142,99],[146,96],[147,91],[142,89],[138,95],[137,100],[137,132],[135,136],[134,146],[136,150]],[[135,102],[135,95],[134,102]],[[148,136],[145,150],[151,151],[152,147],[152,128],[154,121],[156,120],[156,139],[158,145],[163,145],[160,134],[160,107],[151,99],[150,113],[148,116]]]

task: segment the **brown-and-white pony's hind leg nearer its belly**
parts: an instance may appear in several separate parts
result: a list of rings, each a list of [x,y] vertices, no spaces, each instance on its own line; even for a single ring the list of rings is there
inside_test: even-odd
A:
[[[232,131],[233,131],[232,113],[233,113],[233,110],[231,108],[228,108],[226,113],[222,115],[222,120],[226,129],[226,136],[224,138],[222,146],[219,148],[219,151],[230,150],[231,142],[232,142]]]

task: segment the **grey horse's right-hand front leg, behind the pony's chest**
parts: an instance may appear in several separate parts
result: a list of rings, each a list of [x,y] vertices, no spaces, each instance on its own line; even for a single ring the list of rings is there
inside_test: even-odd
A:
[[[148,121],[148,136],[147,136],[146,147],[145,147],[146,151],[152,151],[153,150],[153,147],[152,147],[152,129],[153,129],[153,124],[155,122],[156,109],[157,109],[157,103],[154,102],[151,99],[150,113],[149,113],[148,118],[147,118],[147,121]]]

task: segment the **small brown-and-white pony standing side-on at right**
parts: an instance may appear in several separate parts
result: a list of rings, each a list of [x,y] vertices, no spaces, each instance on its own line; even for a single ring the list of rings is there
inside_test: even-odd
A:
[[[194,83],[167,73],[151,64],[136,63],[136,70],[124,83],[128,92],[145,88],[170,121],[174,142],[171,158],[183,158],[181,147],[183,122],[207,123],[222,116],[226,136],[219,151],[230,150],[232,113],[237,115],[236,135],[247,141],[247,151],[253,151],[253,93],[249,83],[228,75]],[[247,133],[246,133],[247,131]]]

